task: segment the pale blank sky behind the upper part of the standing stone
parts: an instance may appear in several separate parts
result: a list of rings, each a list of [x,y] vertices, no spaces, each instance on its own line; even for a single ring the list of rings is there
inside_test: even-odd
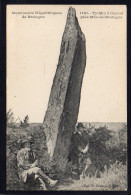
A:
[[[86,38],[86,69],[78,121],[126,122],[126,6],[72,5]],[[42,122],[47,109],[69,5],[7,6],[7,110]],[[12,12],[61,12],[22,18]],[[86,12],[81,14],[80,12]],[[88,12],[88,13],[87,13]],[[122,16],[119,19],[81,16]],[[33,15],[34,16],[34,15]]]

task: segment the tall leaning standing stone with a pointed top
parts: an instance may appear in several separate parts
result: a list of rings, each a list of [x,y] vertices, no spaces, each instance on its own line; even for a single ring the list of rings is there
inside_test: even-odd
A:
[[[68,159],[71,136],[78,118],[85,65],[85,36],[79,26],[75,9],[70,7],[43,121],[48,152],[59,169],[65,168]]]

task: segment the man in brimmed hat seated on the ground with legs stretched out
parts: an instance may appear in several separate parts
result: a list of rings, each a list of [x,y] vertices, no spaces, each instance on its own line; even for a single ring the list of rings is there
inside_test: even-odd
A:
[[[50,179],[43,173],[41,168],[38,167],[38,160],[35,158],[34,152],[31,150],[33,141],[26,139],[21,143],[22,149],[17,153],[18,175],[19,178],[26,183],[30,176],[39,180],[40,188],[46,190],[45,182],[50,186],[54,186],[57,180]]]

